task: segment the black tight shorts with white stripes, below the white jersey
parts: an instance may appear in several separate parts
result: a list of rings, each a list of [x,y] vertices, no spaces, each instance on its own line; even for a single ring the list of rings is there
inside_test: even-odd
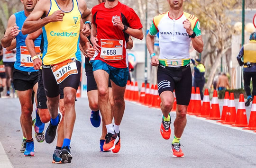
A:
[[[159,95],[164,91],[175,89],[177,105],[188,106],[192,90],[192,73],[190,66],[181,68],[159,65],[157,69],[157,85]]]

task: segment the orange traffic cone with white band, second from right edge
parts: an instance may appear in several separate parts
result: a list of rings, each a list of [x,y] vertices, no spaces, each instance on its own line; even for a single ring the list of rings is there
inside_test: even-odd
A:
[[[246,127],[247,124],[248,123],[247,123],[247,115],[246,115],[246,108],[245,108],[245,98],[244,98],[244,94],[240,94],[236,123],[231,126]]]

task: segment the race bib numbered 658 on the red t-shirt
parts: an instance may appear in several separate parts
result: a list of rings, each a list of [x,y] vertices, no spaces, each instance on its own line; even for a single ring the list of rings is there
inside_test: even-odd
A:
[[[123,40],[101,39],[101,58],[104,60],[122,60]]]

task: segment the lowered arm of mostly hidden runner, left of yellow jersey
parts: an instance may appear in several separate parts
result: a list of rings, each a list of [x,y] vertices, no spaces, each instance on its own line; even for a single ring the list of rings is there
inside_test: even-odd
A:
[[[41,34],[42,34],[42,29],[40,28],[36,32],[27,35],[26,40],[25,40],[27,50],[30,53],[30,56],[32,57],[32,60],[33,60],[35,70],[39,70],[39,68],[42,66],[42,60],[41,59],[39,59],[38,57],[33,59],[33,57],[35,57],[39,54],[35,50],[35,40]]]

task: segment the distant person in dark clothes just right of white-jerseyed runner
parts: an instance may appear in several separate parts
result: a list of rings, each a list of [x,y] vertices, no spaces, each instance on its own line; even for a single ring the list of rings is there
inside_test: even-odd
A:
[[[205,66],[204,64],[201,63],[200,59],[196,59],[194,61],[191,59],[192,63],[194,64],[194,82],[193,82],[193,87],[200,88],[200,95],[201,95],[201,100],[203,99],[203,87],[205,84],[205,78],[204,78],[204,73],[205,73]]]

